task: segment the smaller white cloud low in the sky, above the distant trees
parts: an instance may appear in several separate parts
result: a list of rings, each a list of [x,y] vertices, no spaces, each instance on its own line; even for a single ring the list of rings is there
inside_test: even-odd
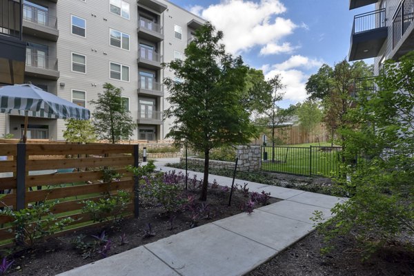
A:
[[[280,74],[282,83],[286,85],[284,91],[284,99],[291,100],[295,103],[303,101],[307,98],[306,81],[308,81],[308,74],[302,70],[309,70],[319,67],[323,64],[317,59],[309,59],[306,56],[290,56],[290,58],[283,63],[275,65],[266,65],[266,69],[271,68],[270,71],[265,72],[266,79],[273,78],[273,76]]]

